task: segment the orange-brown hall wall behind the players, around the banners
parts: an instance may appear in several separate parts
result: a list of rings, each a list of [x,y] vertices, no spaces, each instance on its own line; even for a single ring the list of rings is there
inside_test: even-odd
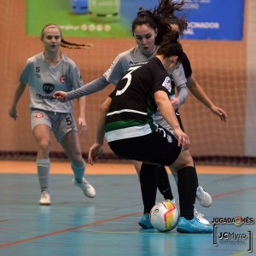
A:
[[[191,140],[190,152],[196,160],[218,163],[236,162],[254,164],[256,159],[255,106],[255,16],[256,5],[246,0],[244,17],[244,38],[241,41],[183,40],[183,49],[189,56],[195,78],[213,102],[228,113],[227,123],[223,123],[205,108],[195,97],[189,95],[186,104],[180,108],[185,131]],[[9,118],[8,110],[12,102],[18,78],[26,59],[43,49],[38,37],[26,36],[26,1],[9,0],[1,3],[0,34],[0,79],[1,79],[1,159],[31,157],[37,151],[30,128],[28,110],[28,90],[18,105],[19,117]],[[50,22],[51,20],[49,20]],[[236,27],[234,27],[236,29]],[[131,39],[64,38],[76,43],[93,43],[91,49],[62,49],[75,61],[84,82],[101,76],[120,52],[134,46]],[[250,52],[247,52],[250,49]],[[250,56],[254,55],[254,61]],[[251,59],[251,61],[248,61]],[[254,66],[252,66],[254,65]],[[248,87],[249,84],[249,87]],[[248,89],[249,88],[249,89]],[[87,96],[86,119],[88,131],[80,137],[84,155],[94,142],[98,111],[103,100],[113,89],[113,85],[94,95]],[[249,99],[249,104],[248,104]],[[77,102],[73,102],[75,116],[78,117]],[[250,125],[252,126],[250,128]],[[249,127],[249,128],[248,128]],[[56,157],[63,157],[61,147],[52,140],[51,151]],[[108,145],[108,158],[112,157]]]

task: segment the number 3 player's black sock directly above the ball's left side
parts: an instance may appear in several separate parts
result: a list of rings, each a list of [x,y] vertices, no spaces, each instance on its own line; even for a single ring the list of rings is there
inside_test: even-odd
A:
[[[140,172],[141,189],[143,195],[144,214],[149,213],[155,205],[157,190],[157,167],[143,163]]]

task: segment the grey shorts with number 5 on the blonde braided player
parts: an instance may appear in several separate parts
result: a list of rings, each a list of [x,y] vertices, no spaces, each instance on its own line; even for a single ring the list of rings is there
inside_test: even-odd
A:
[[[32,131],[37,125],[47,125],[53,131],[56,140],[60,143],[69,131],[78,132],[77,125],[72,113],[55,113],[32,109],[31,127]]]

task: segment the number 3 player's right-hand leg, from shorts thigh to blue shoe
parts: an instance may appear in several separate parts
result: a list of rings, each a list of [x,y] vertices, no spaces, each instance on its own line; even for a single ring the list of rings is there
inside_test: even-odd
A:
[[[195,172],[194,161],[189,151],[183,151],[177,146],[177,138],[171,132],[159,127],[152,133],[153,154],[148,151],[148,159],[157,162],[162,166],[170,166],[177,171],[180,215],[177,227],[179,232],[212,232],[212,227],[201,223],[194,216],[194,205],[198,178]],[[155,145],[153,147],[153,145]]]

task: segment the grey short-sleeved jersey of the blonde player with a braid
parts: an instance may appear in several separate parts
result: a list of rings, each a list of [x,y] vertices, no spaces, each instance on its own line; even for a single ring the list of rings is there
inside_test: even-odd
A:
[[[27,60],[19,81],[29,85],[31,109],[57,113],[72,113],[72,102],[54,99],[55,91],[70,91],[83,85],[79,67],[71,59],[61,54],[61,61],[55,66],[49,66],[43,52]]]

